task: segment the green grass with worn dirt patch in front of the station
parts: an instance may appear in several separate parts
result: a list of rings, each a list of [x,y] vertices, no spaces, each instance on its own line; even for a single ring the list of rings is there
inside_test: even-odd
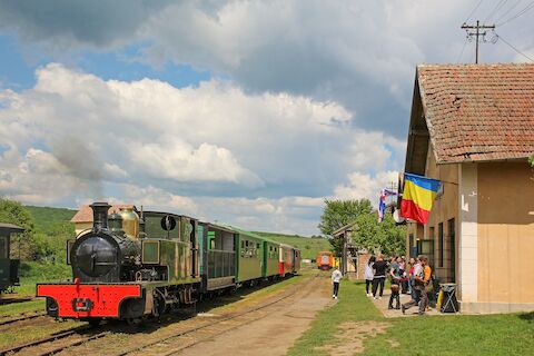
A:
[[[319,313],[288,355],[526,355],[534,314],[386,319],[362,284],[344,281],[339,301]]]

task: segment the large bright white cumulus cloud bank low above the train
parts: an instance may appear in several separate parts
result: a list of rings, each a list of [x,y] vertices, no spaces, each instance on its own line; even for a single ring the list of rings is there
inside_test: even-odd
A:
[[[384,132],[353,128],[337,102],[250,93],[217,79],[179,89],[102,80],[58,63],[37,78],[32,89],[0,91],[0,195],[24,202],[108,197],[315,234],[323,197],[336,186],[346,197],[375,195],[378,185],[364,195],[362,182],[343,186],[347,174],[355,171],[354,180],[389,167],[402,147]],[[13,128],[20,138],[6,134]]]

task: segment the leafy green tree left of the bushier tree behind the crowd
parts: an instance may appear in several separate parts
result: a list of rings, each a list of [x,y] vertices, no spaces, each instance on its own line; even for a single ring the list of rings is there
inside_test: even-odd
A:
[[[320,216],[320,233],[332,236],[332,234],[344,227],[345,225],[356,221],[358,216],[372,214],[373,207],[368,199],[359,200],[328,200],[325,199],[325,209]],[[339,256],[343,250],[343,241],[340,239],[330,239],[332,247]]]

